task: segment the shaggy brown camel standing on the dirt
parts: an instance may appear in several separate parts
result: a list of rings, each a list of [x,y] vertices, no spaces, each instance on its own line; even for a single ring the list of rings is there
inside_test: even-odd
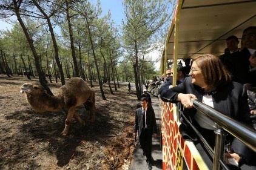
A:
[[[69,131],[70,123],[73,116],[82,124],[86,125],[84,120],[76,113],[76,107],[84,104],[86,110],[90,109],[90,122],[95,120],[95,93],[94,91],[79,77],[74,77],[59,88],[57,96],[50,96],[46,93],[41,85],[33,85],[32,83],[24,83],[21,86],[21,93],[25,92],[27,102],[35,111],[42,113],[44,111],[68,110],[65,128],[61,132],[62,136],[66,136]]]

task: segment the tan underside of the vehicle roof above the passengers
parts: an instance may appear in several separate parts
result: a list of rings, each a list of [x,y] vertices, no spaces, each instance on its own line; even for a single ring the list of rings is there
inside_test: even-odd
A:
[[[174,34],[177,31],[177,59],[197,54],[220,55],[226,48],[226,38],[241,38],[244,28],[256,23],[256,1],[241,0],[179,0],[166,38],[163,57],[173,59]],[[178,27],[174,27],[178,21]]]

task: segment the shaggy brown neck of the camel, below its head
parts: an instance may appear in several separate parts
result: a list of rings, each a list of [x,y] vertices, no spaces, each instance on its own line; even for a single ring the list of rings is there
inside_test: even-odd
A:
[[[50,96],[49,94],[42,94],[41,96],[32,96],[27,94],[27,102],[35,111],[59,111],[64,106],[62,99],[55,96]]]

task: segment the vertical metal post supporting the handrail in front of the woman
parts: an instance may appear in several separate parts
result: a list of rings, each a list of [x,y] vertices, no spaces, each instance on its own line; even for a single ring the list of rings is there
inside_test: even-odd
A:
[[[214,146],[214,165],[213,170],[220,170],[220,159],[223,159],[224,152],[224,134],[223,129],[217,129],[215,133],[215,146]]]

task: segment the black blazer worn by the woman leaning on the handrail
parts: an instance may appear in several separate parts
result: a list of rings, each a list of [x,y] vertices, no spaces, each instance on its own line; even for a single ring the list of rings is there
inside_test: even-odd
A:
[[[202,101],[204,90],[197,85],[192,84],[192,77],[186,77],[184,82],[176,87],[164,90],[161,93],[161,99],[164,102],[177,103],[174,98],[177,97],[177,93],[194,94],[197,96],[198,101]],[[246,88],[240,83],[231,82],[223,87],[217,87],[214,94],[212,94],[212,100],[214,102],[214,109],[220,111],[223,114],[233,117],[234,119],[251,125],[250,111],[248,105],[248,96],[246,94]],[[195,108],[184,109],[183,113],[189,120],[192,120],[197,110]],[[234,139],[235,146],[232,145],[235,152],[244,156],[250,157],[252,154],[251,149],[246,147],[243,143]]]

